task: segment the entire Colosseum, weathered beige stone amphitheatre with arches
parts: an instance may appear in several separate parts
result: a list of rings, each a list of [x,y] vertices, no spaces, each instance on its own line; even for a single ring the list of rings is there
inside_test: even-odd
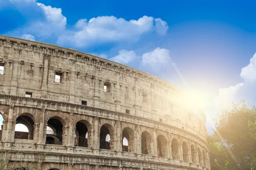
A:
[[[151,74],[0,36],[0,84],[8,167],[38,161],[38,170],[210,170],[205,114],[177,102],[183,92]],[[28,132],[15,131],[17,124]]]

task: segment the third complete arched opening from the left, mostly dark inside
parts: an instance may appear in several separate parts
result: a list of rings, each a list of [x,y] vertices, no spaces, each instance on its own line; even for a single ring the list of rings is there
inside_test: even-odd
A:
[[[75,145],[79,147],[88,147],[87,136],[88,128],[83,122],[76,123]]]

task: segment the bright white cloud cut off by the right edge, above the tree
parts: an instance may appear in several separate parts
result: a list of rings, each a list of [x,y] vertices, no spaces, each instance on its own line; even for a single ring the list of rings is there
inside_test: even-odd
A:
[[[240,77],[244,81],[255,81],[256,80],[256,53],[253,58],[250,59],[250,64],[242,68]]]

